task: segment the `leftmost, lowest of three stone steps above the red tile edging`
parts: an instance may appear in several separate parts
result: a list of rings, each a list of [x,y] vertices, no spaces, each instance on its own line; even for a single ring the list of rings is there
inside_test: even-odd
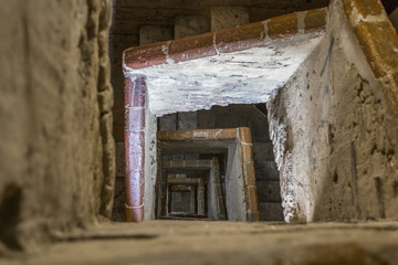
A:
[[[139,45],[174,39],[172,28],[158,25],[142,25],[139,28]]]

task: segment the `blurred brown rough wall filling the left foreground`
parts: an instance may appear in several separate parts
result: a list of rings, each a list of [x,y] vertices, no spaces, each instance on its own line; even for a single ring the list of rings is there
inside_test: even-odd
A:
[[[109,216],[109,0],[2,1],[0,246]]]

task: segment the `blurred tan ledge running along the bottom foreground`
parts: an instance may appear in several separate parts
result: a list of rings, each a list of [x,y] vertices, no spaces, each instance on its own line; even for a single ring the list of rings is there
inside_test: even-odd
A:
[[[398,222],[111,223],[0,264],[398,264]]]

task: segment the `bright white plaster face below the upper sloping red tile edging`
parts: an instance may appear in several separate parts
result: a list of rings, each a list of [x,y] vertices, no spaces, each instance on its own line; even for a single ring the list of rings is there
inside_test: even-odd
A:
[[[209,109],[213,105],[269,100],[320,43],[321,33],[296,34],[264,46],[142,70],[149,110],[160,117],[176,112]]]

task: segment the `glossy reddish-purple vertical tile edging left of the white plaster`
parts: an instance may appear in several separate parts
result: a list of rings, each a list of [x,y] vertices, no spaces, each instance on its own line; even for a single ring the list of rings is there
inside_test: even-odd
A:
[[[145,93],[144,77],[125,78],[125,210],[126,222],[136,223],[144,220]]]

